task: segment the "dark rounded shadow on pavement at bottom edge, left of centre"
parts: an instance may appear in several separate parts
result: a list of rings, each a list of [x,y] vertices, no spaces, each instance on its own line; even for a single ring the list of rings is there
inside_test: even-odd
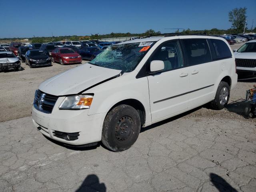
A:
[[[90,192],[90,191],[98,191],[98,192],[106,192],[107,188],[104,183],[99,182],[98,176],[92,174],[88,175],[81,186],[76,190],[76,192]]]

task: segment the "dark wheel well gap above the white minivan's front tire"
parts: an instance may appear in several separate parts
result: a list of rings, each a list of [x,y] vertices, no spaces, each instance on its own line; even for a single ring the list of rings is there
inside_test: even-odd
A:
[[[116,106],[123,105],[123,104],[124,105],[130,105],[138,111],[138,113],[140,115],[141,126],[143,126],[146,122],[145,108],[144,108],[143,104],[140,101],[136,100],[136,99],[122,100],[122,101],[118,102],[117,104],[115,104],[114,106],[112,106],[112,108],[108,112],[110,112]]]

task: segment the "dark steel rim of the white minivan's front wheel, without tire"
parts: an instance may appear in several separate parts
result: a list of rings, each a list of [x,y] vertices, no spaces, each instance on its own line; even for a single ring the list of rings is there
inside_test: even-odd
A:
[[[130,116],[121,117],[115,126],[115,137],[118,141],[126,141],[134,133],[133,119]]]

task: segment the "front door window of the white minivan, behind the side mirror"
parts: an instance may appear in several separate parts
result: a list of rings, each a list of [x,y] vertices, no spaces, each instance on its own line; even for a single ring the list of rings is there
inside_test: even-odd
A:
[[[164,62],[163,72],[184,67],[178,41],[167,42],[158,47],[150,62],[153,60]]]

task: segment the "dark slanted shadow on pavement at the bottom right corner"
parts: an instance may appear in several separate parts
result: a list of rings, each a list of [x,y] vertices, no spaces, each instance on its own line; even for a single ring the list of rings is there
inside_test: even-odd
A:
[[[219,192],[238,192],[234,189],[226,180],[222,177],[218,176],[217,174],[210,173],[210,179],[212,184],[219,190]]]

